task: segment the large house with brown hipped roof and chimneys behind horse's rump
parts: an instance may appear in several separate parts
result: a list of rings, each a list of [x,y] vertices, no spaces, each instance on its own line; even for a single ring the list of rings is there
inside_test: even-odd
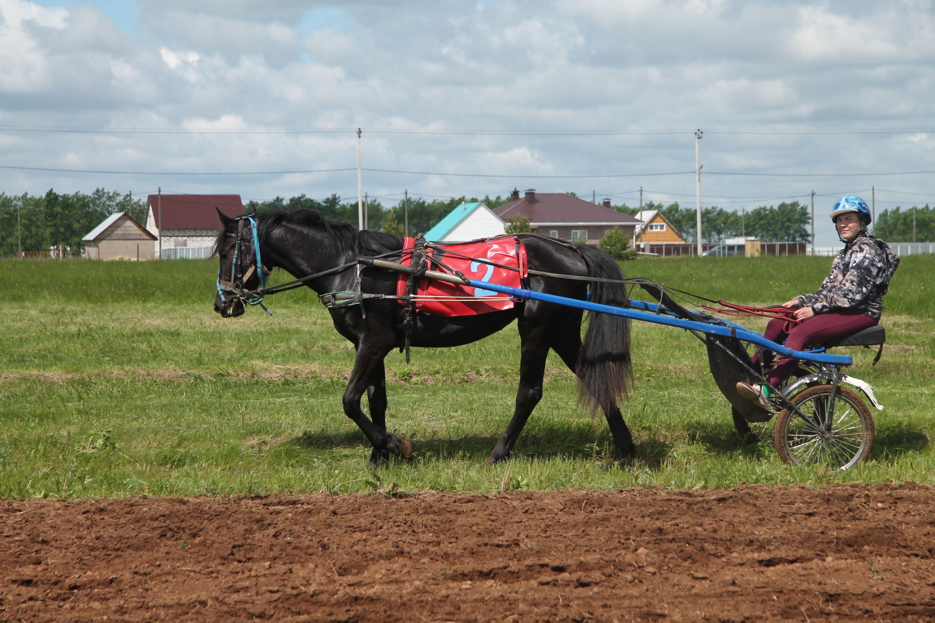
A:
[[[514,189],[510,203],[497,207],[494,214],[503,222],[525,217],[537,234],[592,244],[597,244],[614,227],[632,239],[640,225],[639,220],[612,209],[610,199],[597,205],[564,192],[537,193],[535,189],[525,191],[522,198],[520,191]]]

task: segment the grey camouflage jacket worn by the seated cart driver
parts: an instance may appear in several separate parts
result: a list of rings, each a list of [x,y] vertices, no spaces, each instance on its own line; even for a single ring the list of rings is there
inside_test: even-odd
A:
[[[897,266],[899,256],[883,240],[861,232],[834,256],[831,273],[821,288],[796,300],[803,307],[812,307],[816,314],[857,309],[870,318],[880,318],[883,295]]]

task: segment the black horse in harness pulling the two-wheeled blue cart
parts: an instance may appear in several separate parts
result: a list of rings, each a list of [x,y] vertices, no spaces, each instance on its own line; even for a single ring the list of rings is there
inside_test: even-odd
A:
[[[237,283],[233,290],[256,290],[263,276],[274,267],[296,278],[325,273],[305,281],[305,285],[319,294],[358,288],[365,293],[396,294],[398,273],[361,268],[357,261],[375,256],[398,261],[403,247],[399,236],[367,230],[358,232],[347,223],[330,222],[316,212],[301,210],[250,215],[255,223],[254,235],[250,219],[220,216],[223,231],[218,235],[214,251],[220,257],[221,267],[214,310],[224,318],[244,313],[244,297],[222,291],[220,284],[229,288],[227,279],[236,282],[240,276],[242,283]],[[625,286],[613,283],[622,278],[620,267],[599,248],[536,234],[518,234],[518,237],[525,245],[529,290],[583,299],[587,295],[588,280],[559,276],[597,277],[609,281],[590,282],[591,301],[626,306]],[[260,267],[256,266],[257,244]],[[409,441],[387,432],[385,423],[383,358],[404,343],[403,309],[398,301],[387,299],[367,299],[363,304],[330,308],[335,329],[356,349],[351,379],[342,402],[345,415],[360,427],[373,446],[371,462],[388,459],[390,454],[403,458],[411,456]],[[597,408],[603,411],[617,458],[633,457],[633,439],[617,406],[632,381],[629,321],[609,314],[593,314],[582,340],[582,314],[580,309],[540,301],[517,302],[512,309],[476,316],[445,318],[418,313],[410,333],[411,346],[469,344],[517,319],[522,342],[519,389],[510,424],[491,453],[490,461],[510,457],[526,419],[539,403],[549,348],[577,375],[579,397],[591,407],[592,413]],[[365,391],[370,418],[361,408]]]

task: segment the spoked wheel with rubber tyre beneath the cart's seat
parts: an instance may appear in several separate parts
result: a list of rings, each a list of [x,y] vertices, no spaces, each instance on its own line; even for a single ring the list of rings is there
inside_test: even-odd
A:
[[[873,418],[867,404],[841,386],[831,398],[830,385],[817,385],[789,399],[805,418],[792,408],[776,416],[772,440],[780,459],[847,470],[870,456]]]

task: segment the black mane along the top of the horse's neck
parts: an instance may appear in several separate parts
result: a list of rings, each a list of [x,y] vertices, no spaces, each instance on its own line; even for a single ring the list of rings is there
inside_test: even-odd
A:
[[[334,240],[339,247],[355,251],[361,256],[374,256],[388,251],[397,251],[402,248],[403,241],[398,235],[384,234],[364,230],[359,232],[351,223],[325,219],[314,210],[302,209],[294,211],[270,210],[268,212],[255,212],[252,217],[256,219],[256,226],[262,243],[270,231],[280,225],[295,224],[324,231],[324,234]],[[218,236],[215,249],[219,248],[223,240],[223,232]]]

